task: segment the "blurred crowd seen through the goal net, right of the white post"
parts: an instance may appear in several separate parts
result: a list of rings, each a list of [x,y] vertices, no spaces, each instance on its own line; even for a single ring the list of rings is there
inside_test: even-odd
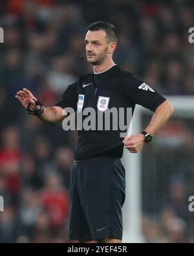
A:
[[[183,112],[184,113],[184,112]],[[144,116],[144,124],[150,116]],[[194,242],[194,119],[172,117],[142,154],[142,231],[146,242]],[[151,159],[151,161],[150,161]],[[190,208],[191,209],[191,208]]]

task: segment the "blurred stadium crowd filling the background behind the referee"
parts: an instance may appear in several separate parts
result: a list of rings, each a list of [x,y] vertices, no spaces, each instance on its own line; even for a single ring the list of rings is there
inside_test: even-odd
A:
[[[64,132],[60,124],[50,126],[27,115],[15,100],[16,91],[27,87],[45,106],[55,104],[69,84],[91,72],[85,58],[81,60],[85,28],[105,20],[118,29],[114,62],[164,95],[193,95],[194,45],[188,42],[188,29],[194,27],[193,4],[186,0],[1,1],[5,43],[0,44],[0,195],[5,211],[0,213],[0,242],[68,241],[76,132]],[[175,122],[174,132],[185,125]],[[189,136],[194,142],[192,130]],[[193,157],[193,145],[185,156]],[[173,154],[171,161],[176,162]],[[163,158],[159,158],[163,172]],[[149,163],[144,164],[144,172],[149,172]],[[184,205],[187,183],[179,174],[173,173],[169,183],[160,183],[160,198],[171,191],[169,204],[162,206],[149,189],[153,176],[145,176],[142,231],[146,242],[194,242]]]

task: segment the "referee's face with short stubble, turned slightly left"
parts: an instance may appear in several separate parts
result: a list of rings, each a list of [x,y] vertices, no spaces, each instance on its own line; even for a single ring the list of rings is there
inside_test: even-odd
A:
[[[103,30],[88,31],[85,36],[85,49],[87,62],[92,65],[101,65],[113,54],[108,54],[110,43],[107,41],[106,33]]]

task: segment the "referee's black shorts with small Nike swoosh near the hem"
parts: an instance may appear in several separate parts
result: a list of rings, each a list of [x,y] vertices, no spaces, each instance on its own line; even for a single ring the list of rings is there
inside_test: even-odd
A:
[[[70,240],[122,240],[125,169],[119,158],[74,161],[70,185]]]

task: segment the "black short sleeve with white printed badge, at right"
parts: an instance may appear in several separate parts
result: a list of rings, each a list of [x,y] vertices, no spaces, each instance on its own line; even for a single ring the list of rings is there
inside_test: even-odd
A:
[[[124,93],[127,99],[151,111],[155,111],[166,100],[133,73],[124,76]]]

